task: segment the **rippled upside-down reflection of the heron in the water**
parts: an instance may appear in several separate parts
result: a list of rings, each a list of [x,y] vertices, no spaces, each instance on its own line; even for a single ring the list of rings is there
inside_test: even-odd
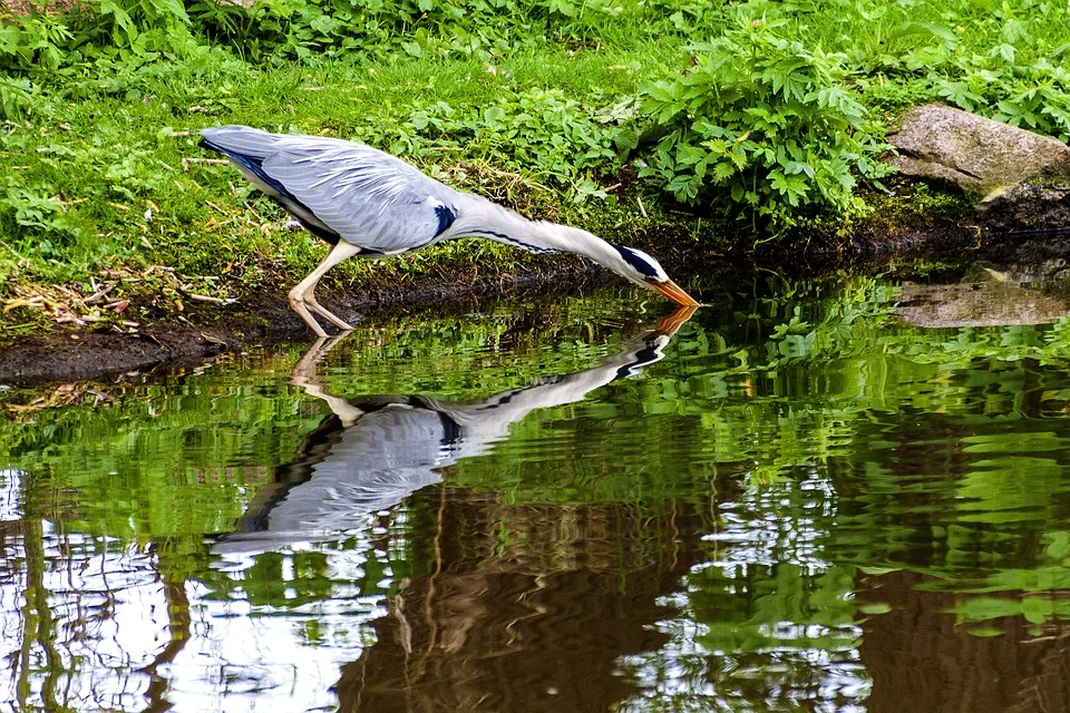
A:
[[[317,374],[317,363],[344,335],[320,339],[293,368],[291,382],[322,399],[332,413],[308,436],[299,457],[279,469],[275,482],[257,490],[239,527],[213,550],[272,549],[363,527],[369,517],[440,482],[442,468],[487,451],[531,411],[580,401],[660,361],[694,311],[681,307],[662,318],[593,369],[468,403],[428,395],[335,397]]]

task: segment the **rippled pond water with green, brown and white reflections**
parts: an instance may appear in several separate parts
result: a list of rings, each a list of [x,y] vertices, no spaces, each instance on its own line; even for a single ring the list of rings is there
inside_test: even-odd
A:
[[[723,274],[693,315],[2,392],[0,707],[1068,710],[1060,271]]]

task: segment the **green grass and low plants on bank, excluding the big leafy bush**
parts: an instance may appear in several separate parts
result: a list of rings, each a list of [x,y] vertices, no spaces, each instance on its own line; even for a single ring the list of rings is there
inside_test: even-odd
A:
[[[430,2],[420,14],[402,2],[401,20],[386,10],[376,16],[378,35],[357,18],[344,20],[341,6],[296,4],[307,20],[333,13],[334,29],[304,32],[293,16],[286,35],[256,16],[261,25],[249,25],[239,42],[220,17],[191,14],[191,27],[216,38],[208,46],[159,10],[164,6],[152,6],[153,16],[142,3],[142,14],[132,14],[142,28],[138,46],[124,45],[123,31],[105,37],[101,17],[48,19],[54,29],[43,46],[62,45],[55,27],[66,21],[80,62],[49,60],[45,50],[27,59],[8,47],[6,55],[10,35],[0,33],[0,62],[10,69],[0,78],[8,116],[0,160],[9,168],[0,176],[0,299],[9,307],[45,286],[90,294],[108,270],[134,274],[168,265],[181,285],[215,296],[242,296],[307,274],[321,246],[282,229],[285,216],[233,168],[185,160],[208,157],[196,147],[196,129],[224,123],[364,140],[458,187],[624,243],[643,244],[659,226],[681,221],[689,225],[675,234],[698,233],[720,246],[765,240],[733,228],[737,217],[753,224],[755,209],[727,199],[735,189],[693,198],[677,192],[696,204],[701,222],[692,223],[670,213],[678,205],[668,182],[628,178],[631,166],[641,167],[664,133],[675,130],[644,110],[636,100],[642,88],[687,77],[691,45],[722,36],[740,18],[835,56],[828,61],[842,76],[836,81],[876,120],[874,140],[905,108],[934,99],[1070,136],[1066,3],[509,0],[494,10],[498,6],[465,0],[454,10]],[[457,8],[468,14],[450,19]],[[0,18],[8,28],[20,22],[32,27]],[[354,37],[366,38],[359,49],[339,49]],[[294,59],[302,48],[309,56]],[[39,67],[49,61],[51,68]],[[667,160],[671,175],[681,159]],[[751,167],[740,170],[729,180],[757,179]],[[621,177],[625,185],[607,191]],[[799,191],[798,180],[791,189]],[[775,201],[778,191],[770,184],[755,195]],[[636,194],[651,219],[640,217]],[[862,202],[840,203],[855,209]],[[801,207],[785,199],[785,206],[791,221],[837,224],[819,199]],[[325,284],[351,286],[371,275],[408,283],[453,270],[505,273],[527,260],[496,244],[463,242],[399,260],[350,261]],[[130,282],[118,296],[139,303],[159,289],[154,280]],[[0,331],[48,322],[33,305],[6,315]]]

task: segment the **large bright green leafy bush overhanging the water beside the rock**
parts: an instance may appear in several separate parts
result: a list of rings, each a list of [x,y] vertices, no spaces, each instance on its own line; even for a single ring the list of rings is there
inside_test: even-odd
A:
[[[862,211],[858,177],[878,182],[892,169],[878,160],[887,146],[846,84],[844,56],[784,39],[782,20],[746,10],[690,48],[694,66],[682,76],[641,87],[660,138],[640,175],[682,203],[746,206],[774,231],[816,206]]]

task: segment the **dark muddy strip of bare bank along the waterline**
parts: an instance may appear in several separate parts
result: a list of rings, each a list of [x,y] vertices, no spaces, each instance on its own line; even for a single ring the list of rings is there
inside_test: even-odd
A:
[[[667,270],[687,284],[718,270],[761,265],[786,271],[852,267],[879,271],[892,261],[927,257],[940,261],[977,258],[1029,263],[1052,255],[1070,255],[1070,233],[1006,233],[936,219],[917,225],[868,225],[846,244],[820,236],[792,242],[790,247],[762,245],[757,251],[721,254],[680,236],[667,236],[651,247]],[[636,243],[639,244],[639,243]],[[417,284],[378,285],[343,293],[321,289],[321,301],[342,319],[357,322],[406,311],[463,312],[502,297],[576,294],[620,279],[597,265],[574,257],[545,257],[515,274],[458,275],[448,282],[424,277]],[[286,286],[250,295],[230,306],[196,305],[185,323],[160,320],[137,335],[108,331],[57,330],[0,348],[0,384],[79,381],[126,372],[197,363],[222,351],[286,340],[311,342],[308,326],[290,310]]]

